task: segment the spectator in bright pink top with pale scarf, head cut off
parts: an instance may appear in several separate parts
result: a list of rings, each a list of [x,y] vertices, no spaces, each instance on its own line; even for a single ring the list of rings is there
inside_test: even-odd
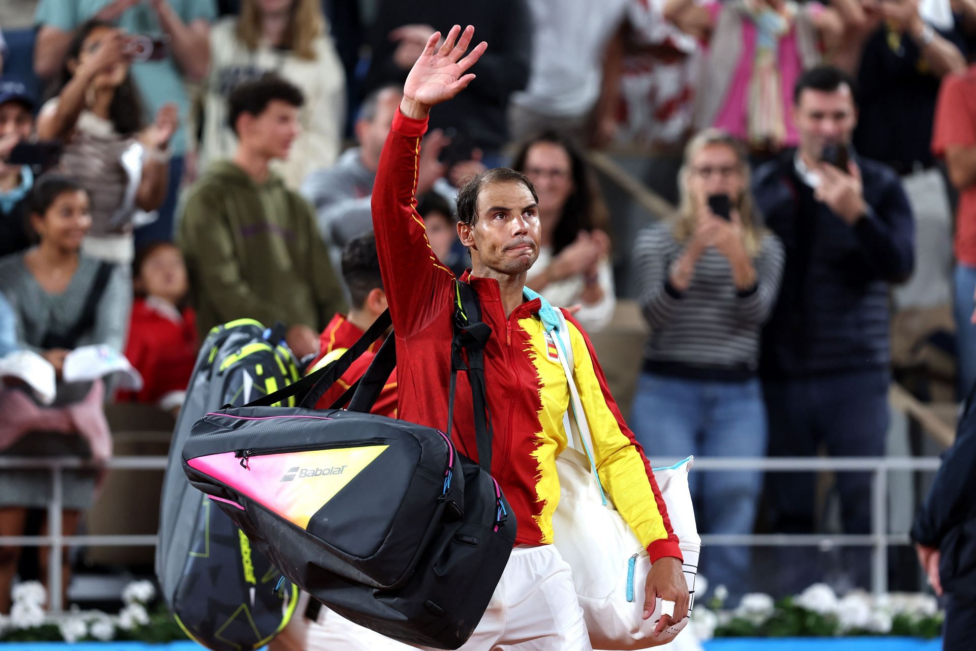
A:
[[[856,0],[839,0],[835,5]],[[797,142],[790,92],[843,30],[841,14],[817,2],[668,0],[665,18],[708,44],[695,122],[748,142],[756,160]]]

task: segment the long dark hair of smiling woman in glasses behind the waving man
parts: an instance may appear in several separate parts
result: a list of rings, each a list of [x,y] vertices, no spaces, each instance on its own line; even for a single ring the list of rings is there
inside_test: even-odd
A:
[[[596,179],[580,148],[555,131],[544,131],[519,144],[511,166],[519,172],[525,172],[529,150],[540,142],[562,147],[569,156],[573,182],[573,191],[566,197],[566,204],[562,207],[562,217],[552,231],[552,254],[555,255],[572,244],[581,230],[606,230],[609,217]]]

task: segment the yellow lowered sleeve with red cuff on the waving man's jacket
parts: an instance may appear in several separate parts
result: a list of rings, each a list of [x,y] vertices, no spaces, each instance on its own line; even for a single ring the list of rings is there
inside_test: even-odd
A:
[[[603,488],[647,549],[652,563],[664,556],[682,559],[668,508],[643,448],[610,395],[590,339],[575,319],[565,310],[563,314],[570,324],[573,372],[590,425],[596,471]]]

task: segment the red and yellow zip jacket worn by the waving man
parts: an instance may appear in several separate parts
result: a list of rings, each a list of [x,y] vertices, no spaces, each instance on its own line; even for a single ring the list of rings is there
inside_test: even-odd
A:
[[[447,426],[451,377],[454,274],[437,260],[416,212],[417,165],[427,120],[397,111],[373,187],[373,227],[386,300],[396,336],[399,418],[427,427]],[[552,542],[551,516],[559,502],[555,458],[567,445],[562,418],[569,387],[549,349],[539,317],[540,299],[506,318],[498,281],[465,274],[478,296],[492,337],[484,349],[488,409],[494,427],[492,474],[518,523],[516,543]],[[569,314],[575,375],[592,432],[603,488],[630,524],[651,561],[681,558],[654,474],[607,389],[590,340]],[[477,459],[470,386],[458,374],[454,439]]]

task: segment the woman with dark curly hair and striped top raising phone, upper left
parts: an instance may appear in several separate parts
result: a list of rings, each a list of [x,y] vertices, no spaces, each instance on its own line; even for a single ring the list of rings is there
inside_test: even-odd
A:
[[[61,168],[91,197],[85,254],[128,266],[135,255],[137,210],[155,210],[166,198],[177,109],[163,105],[155,122],[143,128],[126,47],[122,33],[107,22],[90,20],[76,30],[58,95],[37,118],[37,135],[65,142]]]

